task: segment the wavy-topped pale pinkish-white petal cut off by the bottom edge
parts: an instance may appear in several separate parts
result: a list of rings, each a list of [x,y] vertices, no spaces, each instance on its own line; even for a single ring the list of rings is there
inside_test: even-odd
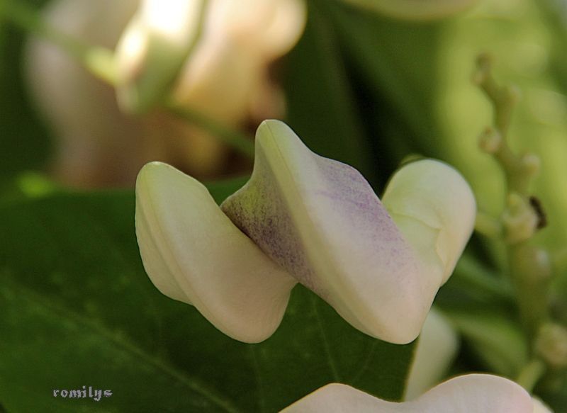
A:
[[[386,402],[348,385],[332,383],[282,413],[532,413],[528,393],[505,378],[470,374],[434,387],[414,402]]]

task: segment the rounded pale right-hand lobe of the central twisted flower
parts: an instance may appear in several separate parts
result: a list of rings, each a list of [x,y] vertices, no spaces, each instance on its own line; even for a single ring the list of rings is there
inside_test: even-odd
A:
[[[392,176],[382,202],[430,276],[445,283],[474,228],[476,202],[468,183],[451,166],[422,159]]]

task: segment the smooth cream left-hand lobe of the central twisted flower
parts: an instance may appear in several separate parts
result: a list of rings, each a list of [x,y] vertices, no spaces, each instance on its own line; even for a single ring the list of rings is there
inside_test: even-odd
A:
[[[225,334],[270,336],[296,281],[230,222],[207,189],[152,162],[136,182],[136,235],[152,283],[188,302]]]

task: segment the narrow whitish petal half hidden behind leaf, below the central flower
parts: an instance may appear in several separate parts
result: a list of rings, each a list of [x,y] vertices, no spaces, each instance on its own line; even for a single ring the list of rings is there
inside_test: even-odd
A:
[[[459,337],[442,312],[432,307],[420,334],[405,388],[413,400],[437,385],[459,349]]]

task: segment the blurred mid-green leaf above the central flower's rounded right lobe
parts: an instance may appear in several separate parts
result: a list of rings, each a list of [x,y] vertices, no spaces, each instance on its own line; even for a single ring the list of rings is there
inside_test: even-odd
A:
[[[403,123],[388,133],[393,142],[385,145],[394,150],[396,144],[402,144],[438,156],[437,126],[432,117],[438,24],[395,21],[337,1],[328,2],[328,9],[347,60],[364,86],[374,98],[384,99]],[[386,123],[391,120],[383,119]],[[403,142],[408,140],[410,145]]]

